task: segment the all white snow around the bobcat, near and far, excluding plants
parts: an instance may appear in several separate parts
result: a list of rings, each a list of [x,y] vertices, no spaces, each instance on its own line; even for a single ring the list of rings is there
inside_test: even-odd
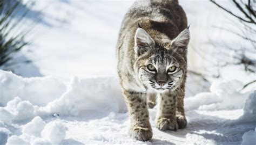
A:
[[[217,80],[206,89],[197,90],[202,83],[189,84],[193,80],[188,78],[185,129],[161,132],[154,128],[153,108],[153,139],[130,139],[114,47],[122,18],[132,3],[37,1],[32,12],[42,20],[36,22],[28,38],[33,44],[17,58],[32,63],[12,66],[22,77],[0,70],[0,144],[256,143],[256,86],[240,92],[255,75],[241,74],[241,68],[221,70],[227,81]],[[201,61],[194,49],[204,48],[209,39],[227,37],[211,28],[223,25],[225,17],[208,2],[180,3],[191,23],[189,67],[200,70],[207,62]],[[34,17],[26,22],[35,23]],[[195,93],[201,90],[208,91]]]

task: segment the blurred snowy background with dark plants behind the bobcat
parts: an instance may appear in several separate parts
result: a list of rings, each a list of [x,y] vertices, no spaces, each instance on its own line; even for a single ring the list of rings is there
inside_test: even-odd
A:
[[[1,0],[0,69],[68,81],[117,76],[115,47],[133,1]],[[215,79],[256,87],[255,1],[180,0],[191,25],[186,95]]]

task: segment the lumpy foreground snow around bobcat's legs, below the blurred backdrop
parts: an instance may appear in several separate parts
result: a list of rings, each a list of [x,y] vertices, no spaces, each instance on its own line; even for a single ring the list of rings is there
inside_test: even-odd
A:
[[[59,85],[49,87],[43,83],[46,80]],[[13,83],[17,81],[19,83]],[[150,122],[154,135],[149,142],[132,140],[128,136],[129,114],[114,77],[75,77],[65,86],[55,78],[22,78],[0,70],[0,83],[0,100],[5,100],[0,107],[2,144],[6,141],[7,144],[239,144],[242,139],[254,141],[256,91],[238,92],[239,81],[214,82],[211,92],[185,98],[185,106],[190,106],[185,107],[188,125],[176,132],[156,129],[156,108],[151,109]],[[37,89],[31,87],[35,85]],[[65,89],[59,91],[63,86]],[[22,89],[13,93],[13,88]],[[35,99],[42,88],[45,94],[42,97],[52,99],[47,104],[40,103],[41,98]],[[62,95],[52,98],[55,94],[52,90]],[[245,132],[248,133],[243,136]]]

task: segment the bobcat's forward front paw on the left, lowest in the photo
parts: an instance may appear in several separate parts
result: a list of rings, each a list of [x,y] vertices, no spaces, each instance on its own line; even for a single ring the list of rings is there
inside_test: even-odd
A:
[[[148,141],[152,138],[153,133],[151,128],[143,128],[136,126],[131,129],[131,137],[139,141]]]

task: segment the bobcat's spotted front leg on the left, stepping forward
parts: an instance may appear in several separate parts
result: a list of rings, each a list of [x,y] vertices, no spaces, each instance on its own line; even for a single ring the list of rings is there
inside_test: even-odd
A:
[[[150,140],[153,136],[149,122],[146,96],[140,92],[124,91],[125,101],[130,113],[130,135],[139,141]]]

